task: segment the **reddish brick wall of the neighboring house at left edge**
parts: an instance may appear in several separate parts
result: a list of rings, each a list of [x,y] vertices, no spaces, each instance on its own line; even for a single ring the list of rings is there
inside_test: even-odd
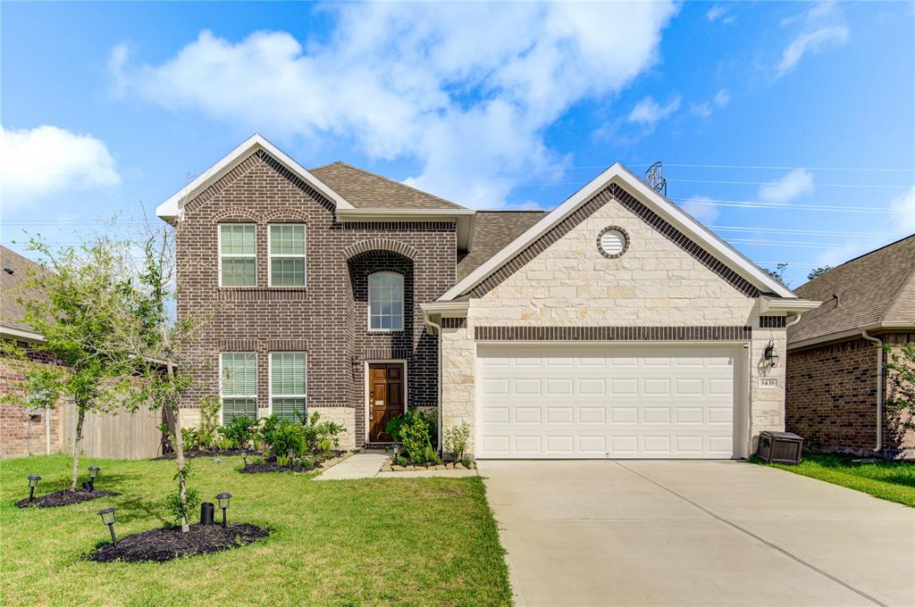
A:
[[[32,363],[53,365],[54,361],[44,352],[30,349],[27,344],[20,343],[26,349],[27,357]],[[24,363],[9,357],[0,357],[0,396],[19,393],[25,376],[23,375]],[[58,414],[55,410],[50,412],[50,442],[51,453],[57,453],[60,447],[60,429]],[[0,403],[0,457],[16,457],[19,455],[35,455],[45,453],[45,412],[29,416],[28,410],[16,404]]]

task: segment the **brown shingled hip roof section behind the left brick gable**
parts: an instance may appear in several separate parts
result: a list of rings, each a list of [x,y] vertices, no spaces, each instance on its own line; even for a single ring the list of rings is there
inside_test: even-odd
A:
[[[414,187],[343,162],[311,169],[356,208],[464,208]]]

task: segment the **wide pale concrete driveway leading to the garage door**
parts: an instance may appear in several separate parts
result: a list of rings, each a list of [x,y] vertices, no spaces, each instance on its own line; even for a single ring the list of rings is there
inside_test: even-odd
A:
[[[740,462],[479,463],[519,605],[915,605],[915,511]]]

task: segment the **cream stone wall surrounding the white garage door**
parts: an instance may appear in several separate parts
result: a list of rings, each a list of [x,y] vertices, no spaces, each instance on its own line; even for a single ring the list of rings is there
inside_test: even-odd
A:
[[[597,235],[608,226],[629,234],[629,249],[619,259],[597,250]],[[769,368],[762,359],[770,340],[784,359],[785,329],[761,328],[757,306],[756,297],[737,290],[629,208],[610,200],[489,293],[471,298],[466,322],[443,328],[443,428],[461,421],[474,427],[477,326],[746,325],[752,336],[747,342],[749,378],[743,385],[750,386],[754,450],[759,431],[784,429],[784,366]],[[782,325],[768,319],[765,324]],[[777,378],[780,389],[759,389],[762,376]]]

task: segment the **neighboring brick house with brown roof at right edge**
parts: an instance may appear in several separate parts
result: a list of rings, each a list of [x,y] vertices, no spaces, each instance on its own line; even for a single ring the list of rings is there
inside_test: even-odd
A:
[[[915,457],[915,432],[880,405],[888,383],[877,356],[877,340],[915,341],[915,235],[797,293],[823,304],[788,329],[787,429],[818,451]]]

